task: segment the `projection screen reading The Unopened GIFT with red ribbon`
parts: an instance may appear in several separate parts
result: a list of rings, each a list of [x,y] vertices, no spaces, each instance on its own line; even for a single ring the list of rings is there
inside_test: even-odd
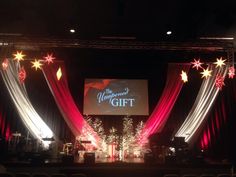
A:
[[[148,82],[85,79],[84,115],[148,115]]]

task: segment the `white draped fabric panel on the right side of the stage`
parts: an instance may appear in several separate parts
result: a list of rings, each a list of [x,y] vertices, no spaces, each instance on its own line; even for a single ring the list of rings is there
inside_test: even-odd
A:
[[[215,68],[215,66],[210,65],[209,68],[213,70],[212,76],[203,80],[188,116],[175,134],[176,137],[185,137],[185,141],[190,145],[198,138],[205,119],[219,93],[219,89],[215,86],[216,76],[221,75],[225,77],[228,70],[227,66]]]

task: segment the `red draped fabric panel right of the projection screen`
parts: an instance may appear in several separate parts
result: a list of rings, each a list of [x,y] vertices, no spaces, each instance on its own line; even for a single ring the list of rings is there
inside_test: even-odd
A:
[[[147,138],[154,134],[162,131],[172,108],[179,96],[179,93],[183,86],[183,81],[181,80],[181,71],[188,73],[190,64],[168,64],[167,79],[166,84],[163,89],[161,98],[159,99],[154,111],[148,118],[145,126],[139,136],[139,142],[145,144]]]

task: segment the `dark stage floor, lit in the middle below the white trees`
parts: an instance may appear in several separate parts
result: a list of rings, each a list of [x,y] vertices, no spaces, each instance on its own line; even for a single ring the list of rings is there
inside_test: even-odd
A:
[[[38,156],[39,155],[39,156]],[[42,154],[34,154],[34,158],[24,161],[11,159],[3,162],[4,166],[12,173],[84,173],[88,177],[162,177],[164,174],[197,174],[232,173],[233,165],[230,163],[178,163],[165,161],[160,163],[148,158],[95,158],[89,157],[87,161],[79,156],[65,155],[58,158],[42,158]],[[166,159],[167,160],[167,159]],[[173,160],[173,159],[172,159]]]

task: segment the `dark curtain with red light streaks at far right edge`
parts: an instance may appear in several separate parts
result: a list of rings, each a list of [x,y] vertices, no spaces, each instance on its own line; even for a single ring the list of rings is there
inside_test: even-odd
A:
[[[231,122],[234,120],[235,105],[236,105],[236,92],[235,92],[235,80],[228,80],[226,87],[217,99],[216,106],[212,111],[209,120],[203,130],[200,137],[201,149],[210,151],[216,149],[219,146],[223,149],[226,146],[225,141],[232,142],[231,136],[227,134],[230,127],[235,128],[235,123]],[[232,123],[233,126],[230,126]],[[224,144],[221,142],[224,141]],[[220,143],[220,144],[219,144]],[[230,146],[229,144],[227,144]]]

